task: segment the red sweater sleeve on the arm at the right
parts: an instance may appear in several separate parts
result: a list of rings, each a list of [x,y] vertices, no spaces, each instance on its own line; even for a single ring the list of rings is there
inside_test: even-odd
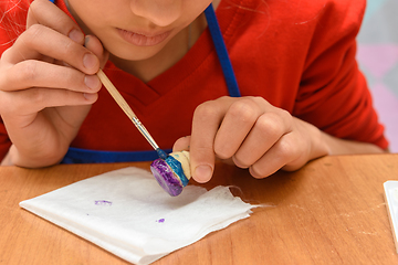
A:
[[[294,116],[333,136],[388,147],[356,63],[365,1],[329,1],[322,11],[296,98]]]

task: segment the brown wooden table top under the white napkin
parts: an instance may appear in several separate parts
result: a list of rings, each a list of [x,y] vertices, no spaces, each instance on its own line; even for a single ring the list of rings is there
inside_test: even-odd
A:
[[[0,264],[127,264],[18,203],[109,170],[149,163],[0,167]],[[218,163],[206,188],[235,186],[252,216],[154,264],[398,264],[383,183],[398,155],[336,156],[255,180]]]

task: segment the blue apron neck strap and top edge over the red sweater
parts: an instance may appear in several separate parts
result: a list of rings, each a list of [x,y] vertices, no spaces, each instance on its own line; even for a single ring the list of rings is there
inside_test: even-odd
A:
[[[55,0],[50,0],[54,2]],[[208,28],[220,61],[222,73],[228,86],[229,95],[240,97],[238,82],[233,73],[232,64],[228,55],[226,43],[222,39],[219,23],[212,3],[205,10]],[[171,152],[171,149],[166,149]],[[151,161],[158,158],[155,150],[149,151],[98,151],[70,147],[61,163],[98,163],[98,162],[129,162]]]

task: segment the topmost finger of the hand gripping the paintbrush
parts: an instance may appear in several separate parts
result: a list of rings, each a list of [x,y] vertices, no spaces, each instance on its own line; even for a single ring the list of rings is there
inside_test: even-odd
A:
[[[49,0],[35,0],[28,10],[27,29],[42,24],[83,45],[84,34],[78,25]]]

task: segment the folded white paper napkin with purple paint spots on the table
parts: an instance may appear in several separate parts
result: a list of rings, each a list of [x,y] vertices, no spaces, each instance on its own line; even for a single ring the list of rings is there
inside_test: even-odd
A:
[[[124,168],[20,202],[135,264],[149,264],[208,233],[248,218],[255,205],[227,187],[187,186],[170,197],[149,171]]]

